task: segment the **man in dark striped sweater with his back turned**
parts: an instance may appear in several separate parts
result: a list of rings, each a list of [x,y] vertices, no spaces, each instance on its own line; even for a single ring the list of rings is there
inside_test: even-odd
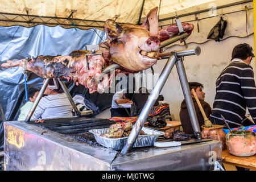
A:
[[[233,48],[231,63],[216,80],[216,96],[210,114],[213,124],[225,125],[223,115],[231,128],[255,125],[256,87],[250,66],[253,57],[253,48],[246,43]],[[254,123],[245,117],[246,107]]]

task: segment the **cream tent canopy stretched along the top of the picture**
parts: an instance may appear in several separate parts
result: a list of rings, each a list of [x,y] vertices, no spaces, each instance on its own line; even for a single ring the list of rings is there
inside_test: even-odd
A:
[[[159,20],[177,15],[196,13],[230,3],[250,0],[0,0],[0,26],[37,24],[78,27],[82,30],[104,27],[106,19],[118,23],[142,23],[147,13],[158,6]],[[252,1],[252,0],[251,0]]]

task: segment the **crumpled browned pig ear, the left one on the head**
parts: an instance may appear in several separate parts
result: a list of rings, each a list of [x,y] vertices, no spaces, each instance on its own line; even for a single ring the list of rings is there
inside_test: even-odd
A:
[[[106,35],[109,39],[117,39],[118,35],[122,32],[122,27],[115,23],[112,19],[107,19],[104,25]]]

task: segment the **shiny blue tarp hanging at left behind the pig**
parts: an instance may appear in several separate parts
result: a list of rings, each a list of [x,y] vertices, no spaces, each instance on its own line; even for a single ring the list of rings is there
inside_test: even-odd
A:
[[[104,31],[97,29],[65,29],[60,26],[48,27],[44,25],[31,28],[22,26],[0,27],[0,64],[6,60],[19,60],[31,56],[68,55],[72,51],[85,49],[86,45],[99,44],[105,39]],[[24,75],[22,72],[23,68],[21,67],[0,67],[0,104],[5,113],[6,121],[15,121],[18,118],[20,107],[25,102]],[[42,81],[43,79],[34,73],[29,73],[27,88],[41,88]],[[84,86],[76,86],[72,82],[66,85],[71,96],[83,94],[85,97],[89,97],[101,110],[108,108],[111,104],[111,99],[109,101],[109,99],[102,100],[99,98],[112,97],[98,93],[89,94]],[[0,121],[0,126],[0,133],[2,133],[2,121]]]

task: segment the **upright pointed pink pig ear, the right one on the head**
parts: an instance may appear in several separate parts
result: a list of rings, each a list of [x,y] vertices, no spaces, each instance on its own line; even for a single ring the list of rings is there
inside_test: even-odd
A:
[[[158,36],[158,7],[150,10],[147,14],[142,27],[150,31],[151,36]]]

